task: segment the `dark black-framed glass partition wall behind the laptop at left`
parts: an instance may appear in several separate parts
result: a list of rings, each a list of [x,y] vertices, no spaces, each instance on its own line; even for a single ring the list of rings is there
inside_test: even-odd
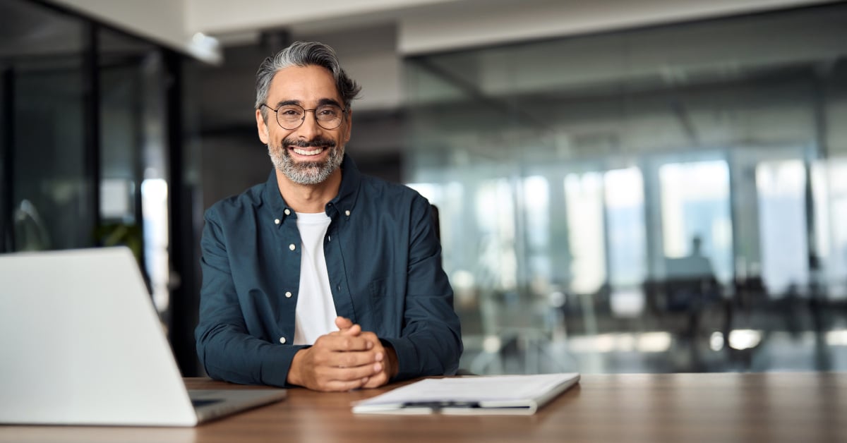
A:
[[[193,375],[196,260],[191,248],[180,247],[180,262],[169,251],[174,237],[193,241],[195,219],[171,210],[191,169],[170,170],[182,152],[180,63],[61,8],[0,0],[0,253],[130,247],[180,368]],[[172,315],[174,294],[186,307]]]

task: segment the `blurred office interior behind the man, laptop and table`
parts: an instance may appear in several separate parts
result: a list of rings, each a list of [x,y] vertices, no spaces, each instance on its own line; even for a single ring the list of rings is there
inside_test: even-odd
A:
[[[847,370],[847,3],[189,0],[181,46],[95,3],[0,0],[0,252],[129,246],[185,376],[202,213],[270,172],[253,76],[295,40],[438,208],[463,369]]]

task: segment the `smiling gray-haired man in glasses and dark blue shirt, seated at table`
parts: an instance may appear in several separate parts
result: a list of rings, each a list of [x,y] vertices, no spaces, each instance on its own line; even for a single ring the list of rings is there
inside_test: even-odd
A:
[[[274,170],[209,208],[202,235],[197,353],[211,377],[352,390],[455,374],[461,332],[429,202],[344,152],[359,89],[317,42],[260,66]]]

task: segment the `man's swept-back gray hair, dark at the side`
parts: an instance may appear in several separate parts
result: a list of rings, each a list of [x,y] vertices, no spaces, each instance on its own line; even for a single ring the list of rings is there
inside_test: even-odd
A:
[[[348,111],[350,110],[353,99],[358,96],[362,87],[348,77],[344,69],[341,69],[335,50],[329,45],[319,42],[293,42],[291,46],[286,47],[276,55],[265,58],[256,72],[256,108],[261,109],[265,121],[268,120],[268,111],[262,108],[262,104],[268,104],[265,103],[265,100],[268,99],[268,90],[271,80],[274,80],[274,75],[280,69],[290,68],[291,66],[306,67],[312,65],[329,69],[335,79],[335,87],[338,89],[341,99],[344,100],[344,107]]]

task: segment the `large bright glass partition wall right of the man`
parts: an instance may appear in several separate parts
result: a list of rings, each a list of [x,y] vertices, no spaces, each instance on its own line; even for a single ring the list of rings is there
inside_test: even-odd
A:
[[[847,369],[847,5],[405,59],[467,352]]]

